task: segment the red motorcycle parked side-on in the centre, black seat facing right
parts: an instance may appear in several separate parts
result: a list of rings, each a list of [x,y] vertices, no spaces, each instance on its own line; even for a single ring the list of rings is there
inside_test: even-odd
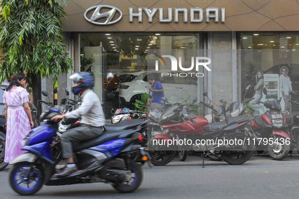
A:
[[[167,102],[165,98],[162,100]],[[147,146],[151,151],[176,151],[179,146],[181,151],[202,153],[203,163],[207,155],[222,157],[229,164],[243,164],[249,160],[253,152],[248,128],[251,117],[227,117],[224,121],[208,124],[205,118],[188,114],[184,102],[166,109],[158,120],[148,125],[151,139]]]

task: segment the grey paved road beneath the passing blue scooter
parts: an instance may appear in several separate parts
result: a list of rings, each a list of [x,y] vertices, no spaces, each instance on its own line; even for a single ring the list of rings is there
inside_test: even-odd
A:
[[[190,156],[166,166],[143,167],[142,185],[121,194],[109,184],[44,186],[22,198],[299,198],[299,155],[274,161],[267,155],[252,156],[243,165]],[[0,198],[20,198],[7,183],[8,169],[0,171]]]

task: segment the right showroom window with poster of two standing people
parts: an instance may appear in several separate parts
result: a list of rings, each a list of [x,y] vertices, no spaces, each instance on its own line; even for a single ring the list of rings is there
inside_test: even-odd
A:
[[[257,85],[257,72],[262,71],[265,74],[264,87],[268,91],[269,99],[282,97],[282,109],[289,111],[289,105],[284,100],[287,99],[286,95],[290,95],[285,92],[293,90],[299,94],[299,33],[240,32],[238,37],[241,48],[239,58],[242,98],[250,98],[256,93],[253,89],[246,93],[245,88],[248,85],[251,85],[251,88]],[[282,74],[284,68],[287,75]],[[261,101],[265,99],[266,95],[263,94]],[[297,111],[297,107],[291,106],[291,112]]]

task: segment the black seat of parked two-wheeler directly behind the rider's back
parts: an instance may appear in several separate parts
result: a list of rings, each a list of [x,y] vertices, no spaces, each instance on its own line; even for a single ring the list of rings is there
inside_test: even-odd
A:
[[[107,124],[104,126],[106,131],[120,131],[125,129],[132,129],[144,123],[143,119],[125,120],[116,124]]]

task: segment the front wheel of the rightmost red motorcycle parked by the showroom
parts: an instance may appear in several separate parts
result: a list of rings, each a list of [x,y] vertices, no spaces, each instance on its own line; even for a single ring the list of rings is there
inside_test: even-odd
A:
[[[268,152],[273,160],[282,160],[287,157],[290,151],[290,145],[286,144],[286,139],[282,136],[277,136],[277,140],[279,143],[273,143],[273,145],[268,144]]]

